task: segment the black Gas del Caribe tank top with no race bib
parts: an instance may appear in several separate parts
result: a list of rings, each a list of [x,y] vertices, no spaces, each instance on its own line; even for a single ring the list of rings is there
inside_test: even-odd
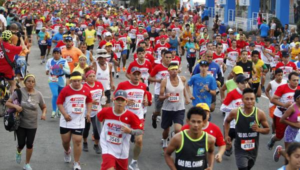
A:
[[[191,139],[187,129],[180,132],[181,147],[175,151],[175,166],[177,169],[205,169],[207,168],[207,133],[202,131],[198,139]]]

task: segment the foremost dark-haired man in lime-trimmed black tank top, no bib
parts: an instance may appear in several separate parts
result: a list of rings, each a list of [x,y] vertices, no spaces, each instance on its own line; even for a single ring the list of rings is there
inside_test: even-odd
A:
[[[205,118],[206,113],[200,107],[188,110],[189,129],[176,133],[164,153],[170,169],[212,169],[215,138],[202,130]],[[175,162],[171,157],[174,151]]]

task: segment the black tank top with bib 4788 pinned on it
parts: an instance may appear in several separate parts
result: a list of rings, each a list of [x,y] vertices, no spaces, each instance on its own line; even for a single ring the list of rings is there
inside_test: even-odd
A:
[[[259,144],[259,133],[251,129],[252,124],[260,126],[257,118],[257,108],[254,107],[249,115],[245,115],[238,107],[235,121],[234,149],[250,156],[256,156]]]

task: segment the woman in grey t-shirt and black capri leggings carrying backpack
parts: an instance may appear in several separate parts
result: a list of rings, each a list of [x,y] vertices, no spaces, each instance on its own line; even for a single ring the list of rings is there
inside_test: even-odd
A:
[[[5,103],[8,108],[15,108],[19,114],[22,114],[19,127],[15,130],[17,137],[15,161],[18,164],[21,162],[21,150],[26,144],[26,161],[23,166],[23,169],[25,170],[31,170],[29,161],[33,150],[33,140],[37,128],[38,107],[42,112],[40,119],[46,119],[46,104],[41,92],[34,88],[35,82],[34,75],[26,75],[24,78],[25,87],[20,88],[22,94],[21,102],[19,104],[14,104],[14,100],[17,100],[17,93],[14,91]]]

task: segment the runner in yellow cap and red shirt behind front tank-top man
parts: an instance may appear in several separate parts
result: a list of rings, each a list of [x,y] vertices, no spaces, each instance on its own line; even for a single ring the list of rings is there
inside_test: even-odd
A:
[[[225,151],[226,143],[224,141],[223,134],[220,128],[212,122],[209,122],[210,110],[209,106],[206,103],[198,103],[196,107],[201,107],[206,112],[206,119],[204,120],[202,130],[206,131],[208,134],[211,134],[215,137],[215,144],[219,147],[218,152],[215,154],[215,160],[217,162],[222,161],[222,155]],[[189,125],[185,124],[181,127],[181,130],[189,129]]]

